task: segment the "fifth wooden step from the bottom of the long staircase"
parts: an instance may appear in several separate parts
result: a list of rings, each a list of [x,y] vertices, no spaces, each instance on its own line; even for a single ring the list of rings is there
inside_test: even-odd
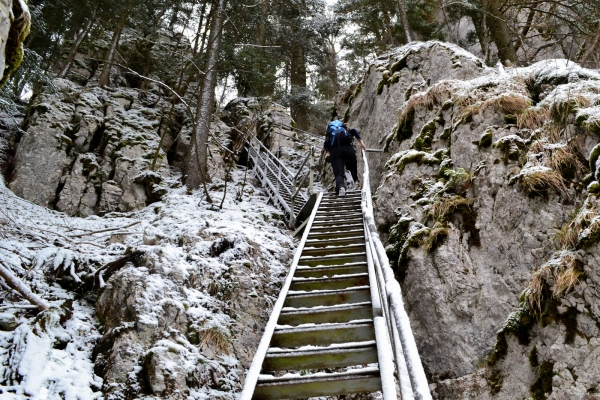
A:
[[[289,293],[283,303],[284,307],[303,308],[319,306],[335,306],[339,304],[364,303],[371,301],[369,287],[342,290],[326,290],[321,292]]]

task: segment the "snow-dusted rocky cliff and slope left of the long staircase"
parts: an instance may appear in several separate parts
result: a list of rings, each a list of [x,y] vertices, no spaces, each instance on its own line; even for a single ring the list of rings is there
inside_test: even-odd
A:
[[[2,154],[15,147],[0,179],[0,263],[51,305],[38,313],[2,287],[0,393],[234,399],[295,243],[228,149],[252,133],[300,162],[291,140],[269,140],[289,114],[240,99],[213,119],[211,204],[179,180],[182,104],[116,69],[117,85],[98,88],[89,57],[74,71],[0,142]]]

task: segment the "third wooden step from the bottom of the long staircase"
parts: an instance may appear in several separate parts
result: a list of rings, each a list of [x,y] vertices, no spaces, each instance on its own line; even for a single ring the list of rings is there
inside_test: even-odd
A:
[[[375,340],[372,323],[326,324],[276,330],[271,347],[328,346],[335,343],[353,343]]]

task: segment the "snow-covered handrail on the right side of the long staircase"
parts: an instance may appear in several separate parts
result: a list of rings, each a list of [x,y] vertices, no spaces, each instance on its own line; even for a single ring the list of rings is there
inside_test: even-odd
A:
[[[380,299],[386,312],[387,330],[392,338],[394,347],[395,366],[403,400],[431,400],[431,392],[427,377],[423,370],[419,351],[410,327],[408,314],[404,309],[400,284],[394,276],[387,258],[385,248],[379,239],[375,218],[373,216],[373,202],[369,180],[369,164],[367,154],[362,151],[364,172],[361,207],[365,225],[365,234],[373,252],[373,264],[378,275]],[[408,379],[407,379],[408,378]]]

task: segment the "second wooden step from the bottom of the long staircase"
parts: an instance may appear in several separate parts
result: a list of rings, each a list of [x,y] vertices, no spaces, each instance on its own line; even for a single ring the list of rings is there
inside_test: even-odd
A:
[[[350,347],[352,346],[352,347]],[[263,371],[341,368],[377,362],[375,343],[357,343],[348,347],[273,351],[269,349]]]

